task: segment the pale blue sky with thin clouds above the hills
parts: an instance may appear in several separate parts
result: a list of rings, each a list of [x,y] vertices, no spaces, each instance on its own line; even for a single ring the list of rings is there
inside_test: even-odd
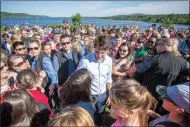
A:
[[[70,17],[189,13],[189,1],[2,1],[1,11]]]

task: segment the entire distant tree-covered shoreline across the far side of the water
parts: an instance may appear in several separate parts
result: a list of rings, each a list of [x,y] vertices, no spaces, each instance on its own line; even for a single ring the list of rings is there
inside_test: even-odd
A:
[[[3,19],[12,19],[12,18],[71,18],[71,17],[49,17],[46,15],[30,15],[26,13],[9,13],[9,12],[1,12],[1,18]],[[170,24],[181,24],[181,25],[189,25],[190,19],[189,14],[157,14],[157,15],[149,15],[149,14],[141,14],[135,13],[130,15],[115,15],[115,16],[104,16],[104,17],[85,17],[82,18],[97,18],[97,19],[110,19],[110,20],[126,20],[126,21],[141,21],[148,23],[167,23]]]

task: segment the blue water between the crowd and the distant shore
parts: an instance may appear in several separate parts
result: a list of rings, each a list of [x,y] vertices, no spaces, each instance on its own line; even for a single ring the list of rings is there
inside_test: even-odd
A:
[[[23,23],[29,23],[29,26],[32,26],[33,24],[37,24],[40,26],[45,25],[53,25],[53,24],[62,24],[63,20],[68,20],[69,24],[72,23],[71,18],[3,18],[1,19],[1,25],[8,25],[11,27],[13,24],[18,23],[21,27]],[[141,22],[141,21],[130,21],[130,20],[111,20],[111,19],[99,19],[99,18],[83,18],[82,24],[96,24],[97,26],[108,26],[116,25],[116,26],[124,26],[124,25],[137,25],[141,29],[147,29],[149,26],[151,26],[153,23],[148,22]],[[154,23],[157,26],[160,25],[160,23]],[[174,24],[172,26],[175,26],[177,29],[189,28],[188,25],[180,25],[180,24]]]

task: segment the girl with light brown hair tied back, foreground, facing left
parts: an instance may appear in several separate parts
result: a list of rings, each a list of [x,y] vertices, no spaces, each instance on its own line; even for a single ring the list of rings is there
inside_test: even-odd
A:
[[[149,111],[156,107],[156,100],[148,90],[135,80],[114,85],[109,93],[111,117],[116,126],[148,126]]]

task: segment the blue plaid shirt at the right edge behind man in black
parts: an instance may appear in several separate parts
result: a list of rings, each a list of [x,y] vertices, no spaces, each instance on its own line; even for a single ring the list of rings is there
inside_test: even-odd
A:
[[[186,40],[180,40],[179,41],[179,46],[178,46],[178,51],[181,54],[184,53],[190,53],[190,44],[188,45],[188,42]]]

